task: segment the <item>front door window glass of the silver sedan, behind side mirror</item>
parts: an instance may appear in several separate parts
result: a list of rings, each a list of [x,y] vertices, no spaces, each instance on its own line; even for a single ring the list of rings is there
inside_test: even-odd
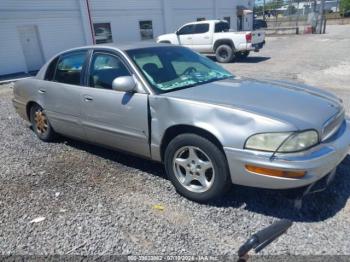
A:
[[[94,54],[89,71],[89,86],[112,89],[112,82],[120,76],[131,76],[124,63],[111,54]]]

